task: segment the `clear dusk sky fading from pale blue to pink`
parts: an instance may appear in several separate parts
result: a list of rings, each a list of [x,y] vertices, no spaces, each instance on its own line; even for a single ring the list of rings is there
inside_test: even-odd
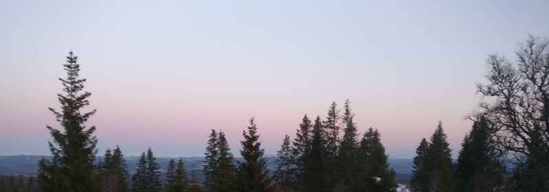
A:
[[[303,115],[351,99],[410,158],[439,121],[454,155],[485,60],[549,38],[549,1],[0,1],[0,155],[47,155],[58,77],[78,56],[100,154],[202,156],[211,129],[239,156],[255,117],[266,154]]]

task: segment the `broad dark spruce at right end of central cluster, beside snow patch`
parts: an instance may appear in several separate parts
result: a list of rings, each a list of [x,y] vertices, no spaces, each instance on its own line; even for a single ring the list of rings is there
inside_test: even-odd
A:
[[[397,191],[395,171],[389,168],[385,147],[377,130],[369,128],[360,141],[360,154],[364,154],[360,168],[358,191]]]

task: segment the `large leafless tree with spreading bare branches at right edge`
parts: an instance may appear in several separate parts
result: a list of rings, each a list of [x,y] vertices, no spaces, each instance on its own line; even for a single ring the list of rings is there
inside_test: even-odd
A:
[[[482,116],[498,128],[498,144],[517,155],[517,191],[549,191],[549,41],[530,36],[513,64],[490,55],[488,84],[479,84]]]

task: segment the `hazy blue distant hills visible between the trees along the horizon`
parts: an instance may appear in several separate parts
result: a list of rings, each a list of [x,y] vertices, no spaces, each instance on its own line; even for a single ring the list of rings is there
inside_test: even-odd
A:
[[[38,170],[38,160],[42,158],[51,158],[51,156],[0,156],[0,175],[36,175]],[[99,157],[101,159],[102,157]],[[176,159],[178,159],[177,157]],[[185,169],[187,170],[187,176],[191,176],[194,173],[199,182],[204,180],[204,173],[202,173],[202,157],[180,157],[185,163]],[[128,165],[128,171],[130,175],[135,173],[137,161],[139,156],[126,157],[126,165]],[[168,162],[172,158],[159,157],[156,158],[156,162],[159,163],[161,171],[165,171]],[[235,160],[242,160],[242,158],[235,158]],[[277,167],[277,157],[273,155],[267,155],[267,168],[274,170]],[[389,158],[388,163],[390,167],[393,167],[397,172],[397,180],[408,180],[412,174],[412,159],[411,158]],[[271,171],[272,173],[272,171]]]

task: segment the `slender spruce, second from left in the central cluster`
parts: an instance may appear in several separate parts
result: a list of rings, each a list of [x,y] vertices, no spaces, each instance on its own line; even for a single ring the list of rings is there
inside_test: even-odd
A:
[[[303,183],[302,174],[303,174],[303,160],[305,159],[305,154],[307,154],[311,149],[311,138],[312,138],[312,123],[311,119],[307,115],[303,116],[301,123],[299,124],[299,129],[296,131],[296,138],[293,142],[293,156],[294,164],[296,166],[295,174],[298,187]]]

